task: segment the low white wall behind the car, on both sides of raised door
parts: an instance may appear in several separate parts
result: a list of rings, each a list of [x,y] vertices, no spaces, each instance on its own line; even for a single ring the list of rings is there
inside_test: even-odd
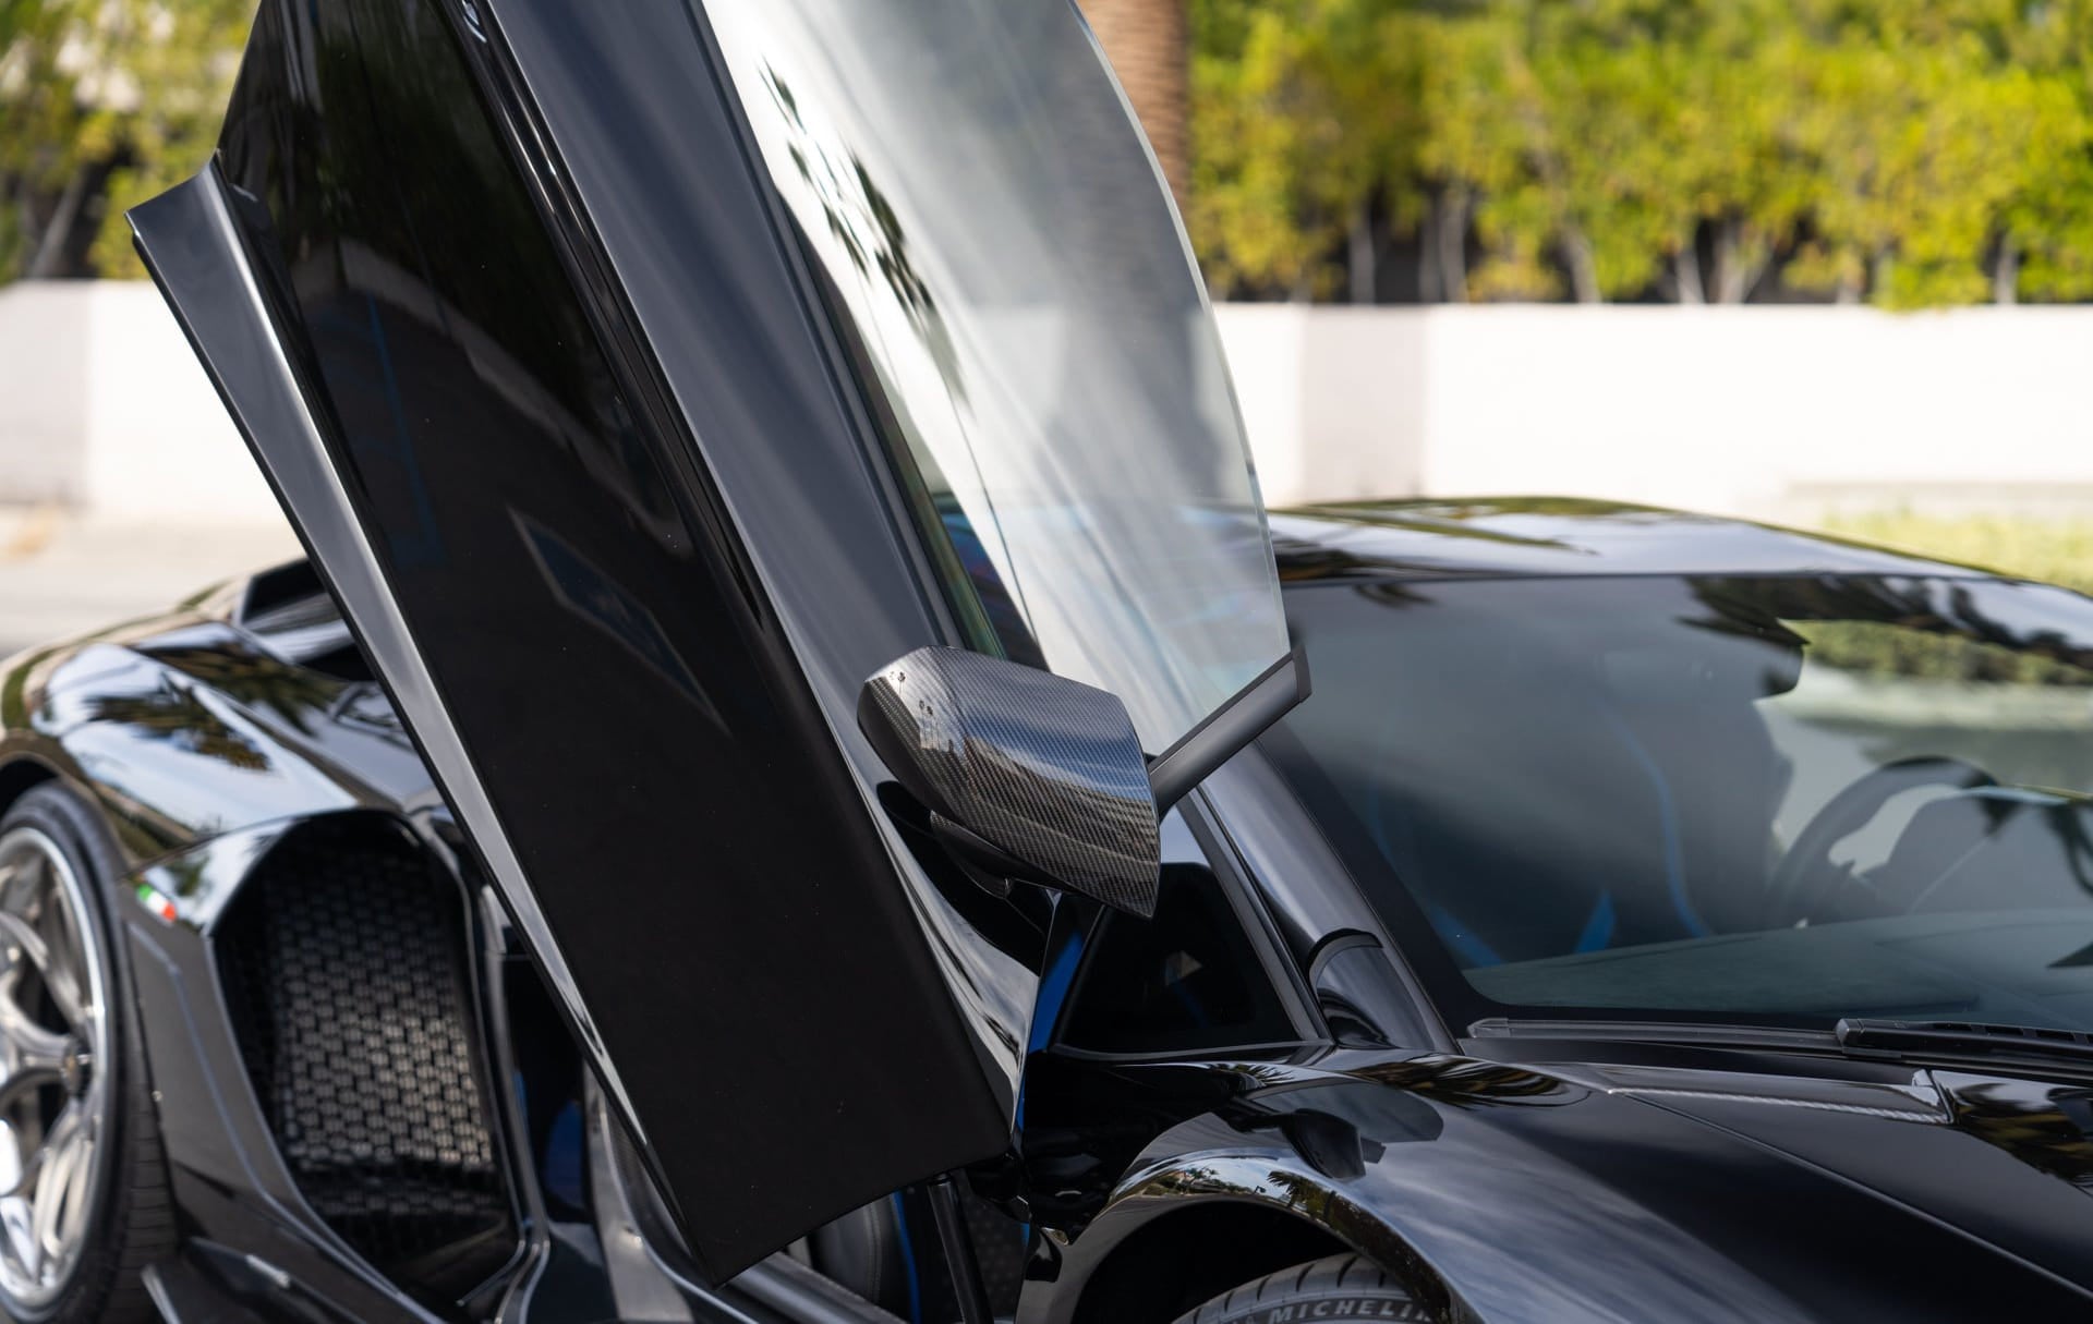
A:
[[[2093,307],[1224,305],[1275,504],[2093,510]],[[149,284],[0,289],[0,504],[276,523]]]

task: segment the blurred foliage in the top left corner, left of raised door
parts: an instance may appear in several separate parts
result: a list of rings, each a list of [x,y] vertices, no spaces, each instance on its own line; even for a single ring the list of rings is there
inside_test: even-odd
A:
[[[123,211],[211,153],[251,0],[0,0],[0,280],[136,276]]]

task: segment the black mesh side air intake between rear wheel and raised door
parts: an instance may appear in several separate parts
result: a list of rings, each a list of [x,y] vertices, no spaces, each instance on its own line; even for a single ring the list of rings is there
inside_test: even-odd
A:
[[[293,1180],[364,1259],[456,1301],[515,1249],[458,893],[404,839],[316,822],[218,931],[226,1004]]]

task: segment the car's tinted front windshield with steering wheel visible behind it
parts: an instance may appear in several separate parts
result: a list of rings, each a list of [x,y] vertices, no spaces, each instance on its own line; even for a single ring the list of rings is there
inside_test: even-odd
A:
[[[1268,743],[1455,1014],[2093,1029],[2093,602],[1919,577],[1289,590]]]

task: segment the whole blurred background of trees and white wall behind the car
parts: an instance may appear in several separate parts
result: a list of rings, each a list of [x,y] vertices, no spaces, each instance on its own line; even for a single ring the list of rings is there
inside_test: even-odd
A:
[[[130,249],[253,0],[0,0],[0,650],[295,544]],[[1275,504],[1557,494],[2093,588],[2093,0],[1082,0]]]

